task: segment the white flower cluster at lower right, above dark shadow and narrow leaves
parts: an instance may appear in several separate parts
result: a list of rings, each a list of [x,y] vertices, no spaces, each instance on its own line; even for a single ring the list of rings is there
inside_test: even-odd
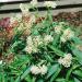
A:
[[[67,54],[67,55],[65,55],[63,58],[60,57],[60,59],[58,59],[58,62],[60,65],[65,66],[66,68],[68,68],[71,65],[71,60],[72,60],[72,55],[71,54]]]

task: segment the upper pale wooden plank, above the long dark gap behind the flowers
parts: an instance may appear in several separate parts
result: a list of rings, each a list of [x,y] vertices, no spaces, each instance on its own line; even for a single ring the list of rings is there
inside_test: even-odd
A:
[[[55,1],[57,3],[57,5],[75,5],[75,4],[80,4],[82,5],[82,0],[61,0],[61,1]],[[25,4],[30,4],[28,2]],[[38,2],[38,8],[44,7],[44,2]],[[1,10],[14,10],[14,9],[20,9],[20,3],[15,3],[15,4],[4,4],[1,7]]]

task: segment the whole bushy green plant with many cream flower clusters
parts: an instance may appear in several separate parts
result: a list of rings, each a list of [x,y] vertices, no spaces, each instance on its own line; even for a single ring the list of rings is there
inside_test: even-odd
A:
[[[44,2],[44,19],[37,4],[37,0],[21,3],[22,13],[10,17],[0,82],[82,82],[82,40],[67,22],[54,22],[50,10],[56,2]]]

